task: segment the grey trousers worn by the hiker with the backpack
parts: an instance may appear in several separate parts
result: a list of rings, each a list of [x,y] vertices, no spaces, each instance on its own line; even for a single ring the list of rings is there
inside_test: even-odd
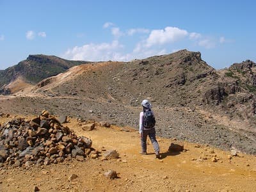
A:
[[[143,129],[142,136],[140,139],[142,152],[147,152],[147,136],[150,138],[150,141],[155,150],[155,154],[157,154],[157,153],[159,154],[160,148],[159,148],[158,142],[156,140],[156,129],[155,128],[147,129],[147,130]]]

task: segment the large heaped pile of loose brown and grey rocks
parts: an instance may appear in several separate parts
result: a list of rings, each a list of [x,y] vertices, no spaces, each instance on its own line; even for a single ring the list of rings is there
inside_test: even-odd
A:
[[[83,159],[92,140],[76,136],[47,111],[32,120],[17,118],[0,127],[0,166],[30,166]]]

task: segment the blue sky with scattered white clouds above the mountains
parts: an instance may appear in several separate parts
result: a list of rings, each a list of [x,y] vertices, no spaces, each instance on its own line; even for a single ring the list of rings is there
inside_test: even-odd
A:
[[[180,49],[216,69],[256,62],[255,2],[0,0],[0,69],[29,54],[130,61]]]

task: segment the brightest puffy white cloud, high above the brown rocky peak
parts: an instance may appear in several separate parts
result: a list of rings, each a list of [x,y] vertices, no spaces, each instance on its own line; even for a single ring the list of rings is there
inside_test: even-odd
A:
[[[175,42],[186,37],[187,35],[188,31],[175,27],[166,27],[164,29],[153,30],[147,38],[147,47]]]

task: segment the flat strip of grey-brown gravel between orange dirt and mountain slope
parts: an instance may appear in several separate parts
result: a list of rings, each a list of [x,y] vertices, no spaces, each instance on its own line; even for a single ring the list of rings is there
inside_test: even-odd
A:
[[[2,97],[3,98],[3,97]],[[43,109],[56,115],[67,115],[84,120],[108,120],[111,124],[129,125],[138,130],[140,107],[99,102],[76,97],[9,97],[1,100],[0,110],[15,114],[40,114]],[[140,104],[138,104],[140,106]],[[246,121],[209,113],[204,108],[158,107],[156,114],[157,135],[202,143],[230,150],[256,154],[256,130]]]

